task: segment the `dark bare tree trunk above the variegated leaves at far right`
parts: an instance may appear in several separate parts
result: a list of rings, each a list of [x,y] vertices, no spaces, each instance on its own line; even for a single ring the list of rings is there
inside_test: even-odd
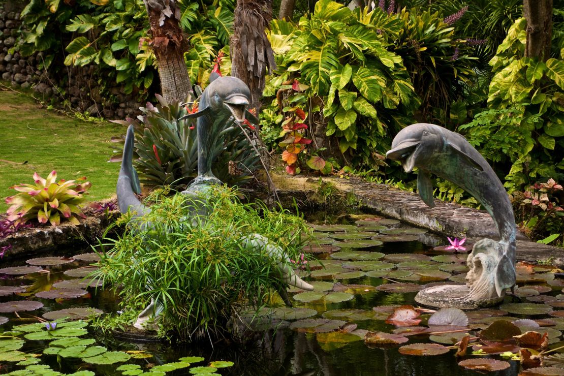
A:
[[[527,19],[525,56],[546,61],[552,41],[552,0],[524,0],[523,15]]]

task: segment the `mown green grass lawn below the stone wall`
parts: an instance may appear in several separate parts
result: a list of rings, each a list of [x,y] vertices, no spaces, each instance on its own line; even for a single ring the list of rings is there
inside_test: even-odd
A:
[[[90,200],[111,197],[120,164],[107,162],[113,145],[109,140],[124,131],[120,125],[63,116],[39,108],[25,95],[0,91],[0,213],[8,208],[4,198],[16,193],[9,188],[32,184],[36,171],[43,178],[51,170],[57,171],[57,179],[86,176],[92,183]]]

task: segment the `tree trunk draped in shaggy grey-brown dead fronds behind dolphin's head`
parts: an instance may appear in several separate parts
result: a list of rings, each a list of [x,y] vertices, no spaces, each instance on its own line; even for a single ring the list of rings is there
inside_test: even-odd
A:
[[[272,20],[271,0],[237,0],[231,37],[231,76],[240,78],[249,86],[250,107],[257,116],[261,109],[262,91],[265,89],[265,74],[276,69],[274,52],[265,30]],[[270,166],[270,155],[259,136],[259,127],[254,130],[261,158]]]

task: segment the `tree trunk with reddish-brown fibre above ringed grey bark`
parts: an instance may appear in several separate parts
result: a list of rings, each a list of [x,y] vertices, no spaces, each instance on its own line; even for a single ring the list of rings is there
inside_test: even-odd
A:
[[[192,85],[184,63],[187,42],[180,28],[180,8],[175,0],[143,0],[151,25],[149,46],[155,51],[163,98],[186,101]]]

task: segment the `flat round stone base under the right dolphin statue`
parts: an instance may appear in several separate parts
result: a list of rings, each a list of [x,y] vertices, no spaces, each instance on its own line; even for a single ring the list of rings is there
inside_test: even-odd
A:
[[[438,285],[419,291],[417,303],[435,308],[477,309],[496,306],[504,297],[470,299],[470,289],[466,285]]]

